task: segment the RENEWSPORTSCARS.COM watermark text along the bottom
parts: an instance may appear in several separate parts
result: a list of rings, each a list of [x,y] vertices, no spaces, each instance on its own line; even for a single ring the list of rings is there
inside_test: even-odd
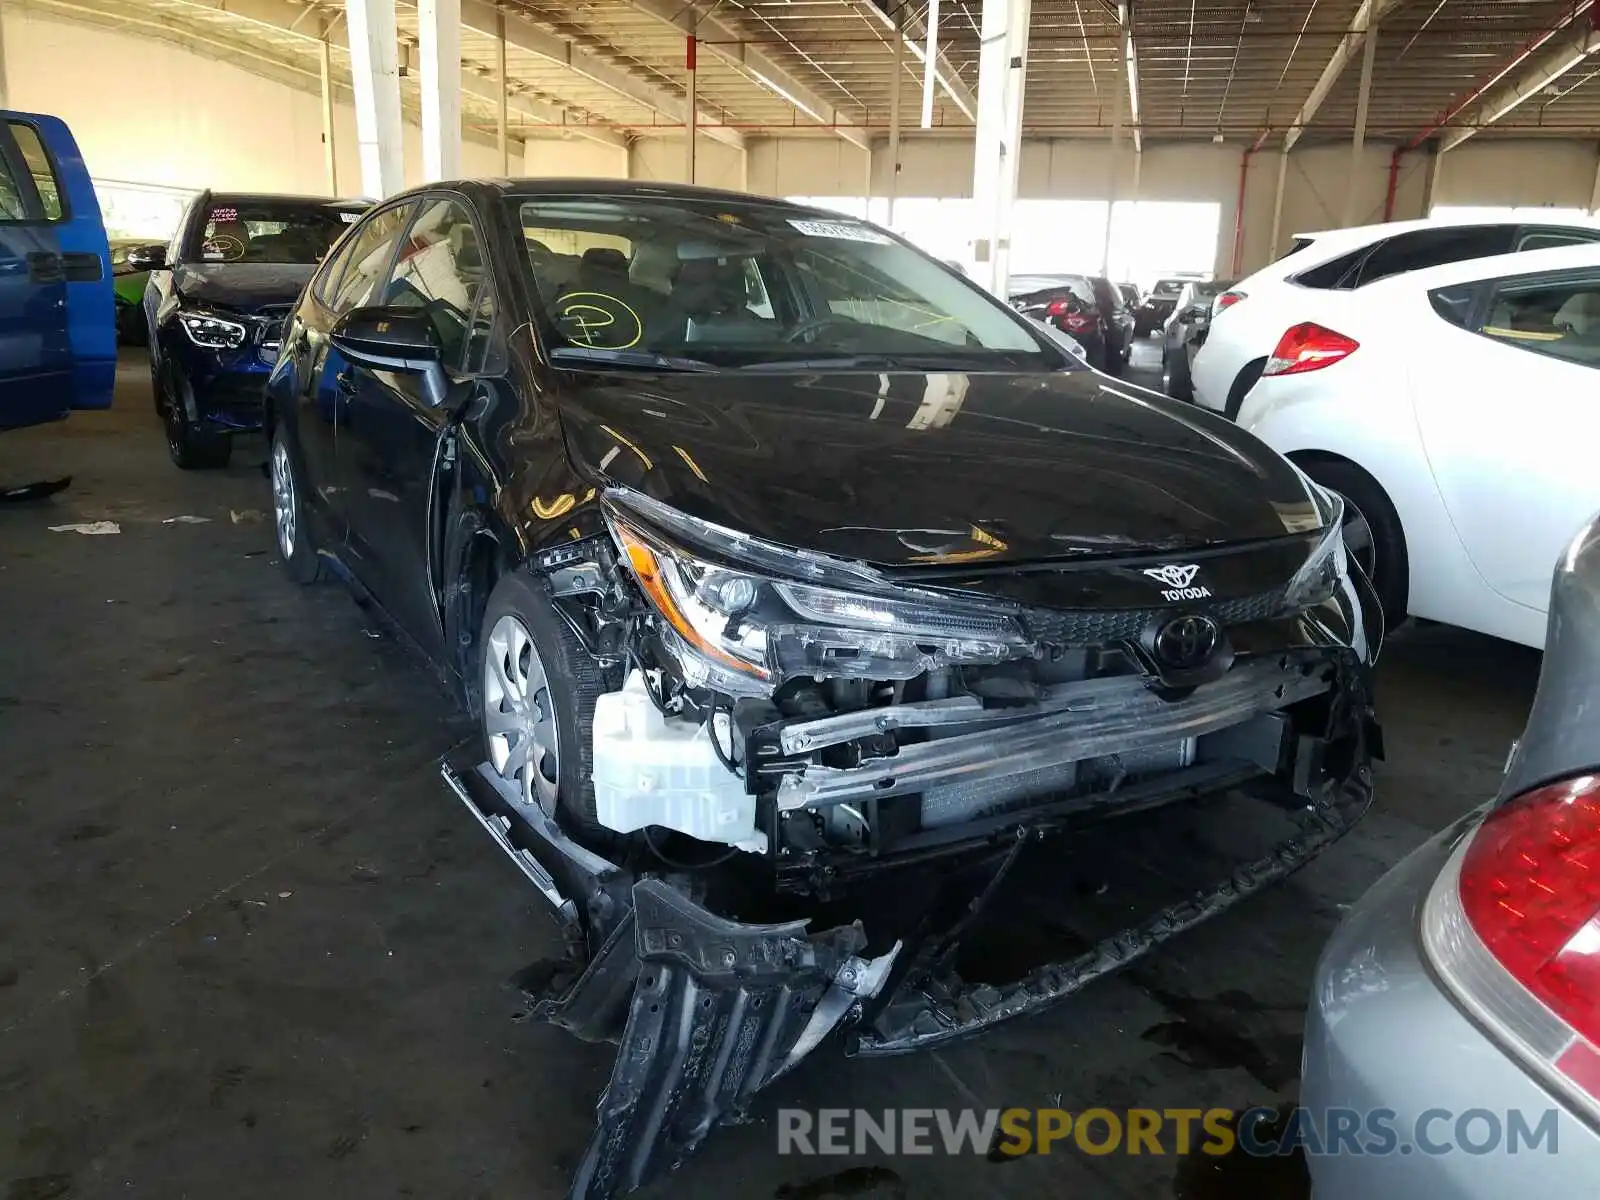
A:
[[[779,1109],[778,1152],[1390,1155],[1557,1154],[1555,1109]]]

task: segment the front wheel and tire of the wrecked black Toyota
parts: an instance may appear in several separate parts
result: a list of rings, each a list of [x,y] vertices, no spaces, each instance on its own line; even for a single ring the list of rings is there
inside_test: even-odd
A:
[[[478,725],[490,765],[517,784],[525,805],[568,834],[589,842],[616,837],[595,821],[594,717],[595,699],[621,680],[582,648],[544,581],[509,571],[494,584],[478,627]],[[533,691],[531,717],[520,707],[518,688]],[[512,768],[523,738],[530,762]]]

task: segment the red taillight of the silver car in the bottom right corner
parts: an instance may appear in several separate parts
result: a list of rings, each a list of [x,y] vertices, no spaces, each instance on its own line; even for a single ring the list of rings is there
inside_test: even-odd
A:
[[[1494,960],[1600,1045],[1600,776],[1539,787],[1490,813],[1458,888]]]

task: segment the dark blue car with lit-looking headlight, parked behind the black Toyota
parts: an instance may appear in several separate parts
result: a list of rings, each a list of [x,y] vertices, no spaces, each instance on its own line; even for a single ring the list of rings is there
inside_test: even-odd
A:
[[[150,270],[150,382],[173,462],[221,467],[232,435],[261,429],[283,320],[360,200],[202,192],[168,246],[130,262]]]

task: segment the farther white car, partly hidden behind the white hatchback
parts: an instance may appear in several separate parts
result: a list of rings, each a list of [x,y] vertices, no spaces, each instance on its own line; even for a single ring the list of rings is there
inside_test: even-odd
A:
[[[1560,222],[1390,221],[1296,234],[1288,254],[1224,293],[1232,302],[1226,312],[1218,307],[1213,314],[1205,347],[1194,358],[1195,400],[1234,416],[1261,378],[1278,334],[1294,323],[1294,310],[1314,294],[1360,293],[1408,270],[1590,242],[1600,242],[1600,221],[1584,218]]]

